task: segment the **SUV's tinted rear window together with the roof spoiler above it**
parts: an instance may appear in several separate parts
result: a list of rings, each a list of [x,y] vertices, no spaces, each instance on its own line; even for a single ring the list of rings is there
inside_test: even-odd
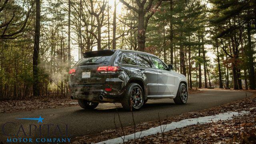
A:
[[[74,66],[108,64],[113,54],[114,52],[110,50],[86,52],[84,58],[78,60]]]

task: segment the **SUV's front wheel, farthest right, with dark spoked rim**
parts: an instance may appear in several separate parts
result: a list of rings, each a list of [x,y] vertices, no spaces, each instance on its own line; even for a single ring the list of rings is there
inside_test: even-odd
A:
[[[175,104],[186,104],[188,101],[188,88],[186,84],[180,83],[176,98],[173,99]]]

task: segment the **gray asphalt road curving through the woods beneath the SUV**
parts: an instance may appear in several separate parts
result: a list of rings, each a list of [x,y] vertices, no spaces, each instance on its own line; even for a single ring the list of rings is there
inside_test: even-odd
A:
[[[252,93],[248,93],[252,96]],[[158,120],[160,118],[176,116],[186,112],[193,112],[226,104],[235,100],[245,98],[245,92],[231,90],[204,90],[202,93],[190,94],[186,105],[176,105],[172,99],[148,100],[147,104],[140,110],[134,112],[134,120],[136,123]],[[114,115],[116,123],[118,117],[116,109],[120,114],[123,126],[133,125],[131,112],[126,112],[120,104],[99,104],[95,110],[84,110],[80,106],[71,106],[66,108],[34,110],[28,112],[12,112],[0,114],[0,141],[6,141],[3,135],[2,127],[6,122],[14,122],[14,124],[6,124],[4,130],[7,134],[17,134],[20,124],[24,128],[26,134],[29,134],[29,124],[34,124],[39,128],[39,124],[35,120],[18,120],[16,118],[44,118],[42,124],[54,124],[50,126],[50,133],[54,133],[57,125],[60,127],[62,134],[66,130],[68,124],[68,134],[70,137],[82,136],[86,134],[94,134],[103,130],[114,129]],[[46,129],[46,128],[45,128]],[[42,130],[46,134],[46,130]],[[32,135],[34,127],[32,126]],[[57,128],[56,134],[59,130]],[[20,129],[19,137],[22,137],[22,129]],[[23,136],[24,137],[24,136]]]

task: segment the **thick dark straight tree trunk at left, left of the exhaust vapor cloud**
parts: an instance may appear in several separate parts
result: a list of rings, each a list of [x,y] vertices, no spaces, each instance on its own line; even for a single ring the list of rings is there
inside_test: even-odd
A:
[[[33,53],[33,96],[40,96],[39,75],[38,75],[38,56],[40,44],[40,0],[36,0],[36,26],[34,38],[34,53]]]

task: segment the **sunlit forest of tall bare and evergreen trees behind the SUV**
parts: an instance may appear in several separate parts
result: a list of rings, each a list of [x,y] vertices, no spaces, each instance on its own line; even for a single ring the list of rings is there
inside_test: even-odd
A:
[[[0,100],[68,95],[83,52],[155,54],[189,88],[255,89],[256,0],[0,0]]]

